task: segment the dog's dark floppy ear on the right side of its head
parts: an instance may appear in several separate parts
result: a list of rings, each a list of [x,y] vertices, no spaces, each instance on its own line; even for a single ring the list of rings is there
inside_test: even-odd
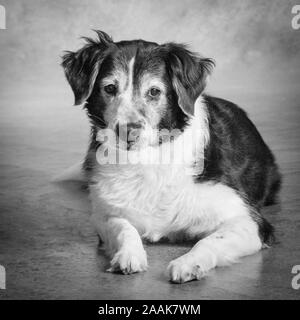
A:
[[[178,105],[187,115],[194,115],[194,103],[206,86],[215,63],[189,51],[185,45],[167,43],[166,66],[178,96]]]

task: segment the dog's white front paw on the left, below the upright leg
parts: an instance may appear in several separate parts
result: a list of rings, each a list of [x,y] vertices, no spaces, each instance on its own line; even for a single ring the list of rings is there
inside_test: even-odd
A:
[[[111,267],[107,270],[109,272],[121,271],[124,274],[130,274],[146,271],[148,267],[146,251],[143,248],[121,249],[114,255],[110,265]]]

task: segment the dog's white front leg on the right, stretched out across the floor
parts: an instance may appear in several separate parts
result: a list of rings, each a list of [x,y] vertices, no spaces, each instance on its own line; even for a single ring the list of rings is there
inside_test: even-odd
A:
[[[200,279],[210,269],[233,263],[261,247],[258,226],[249,215],[231,218],[188,253],[171,261],[170,279],[178,283]]]

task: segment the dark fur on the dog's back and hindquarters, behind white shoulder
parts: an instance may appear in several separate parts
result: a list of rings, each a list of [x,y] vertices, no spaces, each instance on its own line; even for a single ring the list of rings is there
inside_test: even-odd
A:
[[[204,170],[196,182],[222,182],[244,197],[257,222],[261,238],[270,243],[273,227],[261,216],[264,205],[274,204],[281,175],[274,156],[245,111],[232,102],[204,95],[209,116],[210,142]]]

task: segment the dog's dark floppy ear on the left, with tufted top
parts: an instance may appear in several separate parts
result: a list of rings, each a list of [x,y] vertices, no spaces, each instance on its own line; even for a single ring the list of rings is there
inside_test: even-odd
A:
[[[75,105],[82,104],[90,96],[105,51],[113,43],[105,32],[95,30],[97,40],[83,37],[87,42],[76,52],[67,51],[62,57],[66,78],[74,92]]]

